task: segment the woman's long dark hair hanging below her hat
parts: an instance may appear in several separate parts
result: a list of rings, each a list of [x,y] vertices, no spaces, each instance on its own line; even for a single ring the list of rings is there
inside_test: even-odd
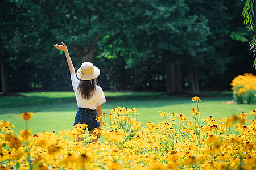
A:
[[[97,79],[81,80],[77,89],[79,90],[83,99],[90,99],[96,91]]]

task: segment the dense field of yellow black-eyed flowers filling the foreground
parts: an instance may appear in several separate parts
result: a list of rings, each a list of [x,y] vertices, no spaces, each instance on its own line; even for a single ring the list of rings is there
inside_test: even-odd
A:
[[[190,116],[160,111],[163,121],[148,122],[145,128],[137,121],[137,109],[113,108],[94,130],[104,137],[98,143],[90,142],[95,137],[84,134],[83,124],[31,134],[33,113],[25,112],[20,116],[26,130],[18,136],[11,130],[14,125],[0,121],[0,169],[255,169],[256,125],[247,117],[256,120],[256,109],[215,120],[200,117],[199,97],[192,101]],[[76,142],[78,136],[82,142]]]

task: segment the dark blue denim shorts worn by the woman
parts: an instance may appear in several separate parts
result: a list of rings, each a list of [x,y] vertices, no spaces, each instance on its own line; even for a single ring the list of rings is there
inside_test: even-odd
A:
[[[99,128],[100,122],[96,121],[97,116],[98,114],[96,110],[77,108],[74,126],[78,123],[88,124],[88,131],[93,130],[94,128]]]

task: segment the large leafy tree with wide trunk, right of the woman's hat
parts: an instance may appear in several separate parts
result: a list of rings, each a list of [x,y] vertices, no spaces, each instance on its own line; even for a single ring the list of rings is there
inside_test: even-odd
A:
[[[167,92],[183,91],[181,61],[202,52],[209,35],[207,20],[189,15],[185,1],[130,1],[119,3],[112,17],[113,29],[107,40],[114,54],[137,61],[152,52],[163,58]],[[112,29],[110,29],[112,30]],[[119,50],[117,50],[119,49]],[[203,49],[204,50],[204,49]]]

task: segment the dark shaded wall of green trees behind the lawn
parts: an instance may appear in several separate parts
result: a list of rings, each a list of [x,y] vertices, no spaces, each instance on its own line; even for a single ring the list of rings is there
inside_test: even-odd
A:
[[[65,56],[53,46],[61,42],[75,69],[84,61],[101,69],[104,90],[230,90],[234,76],[255,73],[248,49],[253,32],[243,25],[243,3],[1,1],[0,91],[72,91]],[[160,64],[137,86],[117,88],[138,76],[134,68],[147,54]]]

